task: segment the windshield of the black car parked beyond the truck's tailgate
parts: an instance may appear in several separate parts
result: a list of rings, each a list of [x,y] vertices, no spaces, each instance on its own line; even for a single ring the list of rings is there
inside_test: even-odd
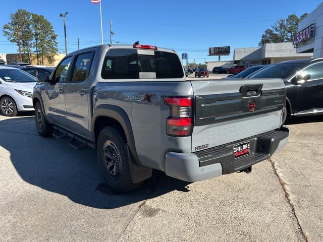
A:
[[[303,66],[304,63],[286,63],[286,64],[276,64],[267,67],[249,78],[286,78],[295,72],[299,67]]]

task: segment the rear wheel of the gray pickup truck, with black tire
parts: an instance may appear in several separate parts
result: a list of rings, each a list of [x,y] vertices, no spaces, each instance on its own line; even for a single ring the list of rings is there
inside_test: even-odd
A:
[[[105,127],[97,140],[97,161],[107,185],[117,193],[128,193],[137,189],[140,183],[133,183],[127,142],[117,127]]]

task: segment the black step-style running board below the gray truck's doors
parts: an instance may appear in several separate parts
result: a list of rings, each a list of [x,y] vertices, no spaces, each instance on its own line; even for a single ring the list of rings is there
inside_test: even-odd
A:
[[[71,146],[72,148],[76,149],[76,150],[80,150],[80,149],[84,149],[86,147],[91,147],[93,149],[95,149],[95,144],[92,142],[89,142],[71,132],[68,132],[67,130],[64,130],[63,128],[57,127],[57,126],[53,126],[53,128],[55,129],[55,131],[52,133],[52,136],[57,138],[57,139],[63,139],[66,137],[71,137],[70,141],[69,141],[69,146]]]

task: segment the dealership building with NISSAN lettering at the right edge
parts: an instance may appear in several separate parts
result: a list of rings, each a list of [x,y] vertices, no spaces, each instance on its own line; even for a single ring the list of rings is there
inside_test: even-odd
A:
[[[314,58],[323,57],[323,3],[298,23],[293,44],[297,53],[312,53]]]

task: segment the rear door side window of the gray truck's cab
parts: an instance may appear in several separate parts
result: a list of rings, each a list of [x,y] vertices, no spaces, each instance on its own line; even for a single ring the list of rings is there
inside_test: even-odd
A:
[[[93,52],[84,53],[77,56],[72,82],[83,82],[89,75]]]

